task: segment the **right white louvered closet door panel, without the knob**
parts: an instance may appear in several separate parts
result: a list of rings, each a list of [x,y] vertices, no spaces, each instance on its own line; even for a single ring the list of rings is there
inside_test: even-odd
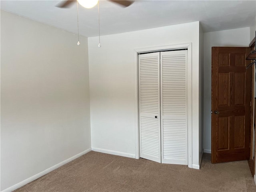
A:
[[[187,50],[160,57],[162,162],[187,165]]]

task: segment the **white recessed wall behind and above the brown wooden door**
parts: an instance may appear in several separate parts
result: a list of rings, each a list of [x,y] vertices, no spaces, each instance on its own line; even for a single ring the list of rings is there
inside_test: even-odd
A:
[[[204,33],[204,152],[211,152],[212,47],[248,47],[250,27]]]

